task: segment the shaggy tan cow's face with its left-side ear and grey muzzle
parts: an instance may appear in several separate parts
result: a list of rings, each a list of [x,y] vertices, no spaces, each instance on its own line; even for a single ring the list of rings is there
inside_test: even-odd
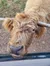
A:
[[[17,14],[13,20],[7,18],[3,25],[10,33],[8,43],[10,53],[14,55],[27,53],[35,29],[35,25],[29,20],[29,17],[25,14]]]

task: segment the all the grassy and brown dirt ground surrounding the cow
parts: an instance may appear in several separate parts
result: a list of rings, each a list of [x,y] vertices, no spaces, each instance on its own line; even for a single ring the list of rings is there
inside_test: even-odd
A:
[[[26,0],[0,0],[0,17],[13,17],[16,12],[23,11]],[[7,54],[9,33],[0,22],[0,54]],[[28,52],[50,52],[50,28],[39,39],[33,38]]]

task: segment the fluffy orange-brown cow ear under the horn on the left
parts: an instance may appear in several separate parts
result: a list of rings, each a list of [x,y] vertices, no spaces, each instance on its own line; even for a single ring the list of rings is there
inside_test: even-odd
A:
[[[13,29],[13,20],[10,18],[6,18],[2,25],[6,30],[10,32]]]

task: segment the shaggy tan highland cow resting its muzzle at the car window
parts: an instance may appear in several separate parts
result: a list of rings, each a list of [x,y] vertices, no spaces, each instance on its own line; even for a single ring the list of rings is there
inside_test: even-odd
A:
[[[27,54],[33,36],[41,37],[46,28],[38,26],[39,21],[50,21],[50,0],[27,0],[23,12],[14,19],[6,18],[3,26],[10,33],[8,51],[13,57]]]

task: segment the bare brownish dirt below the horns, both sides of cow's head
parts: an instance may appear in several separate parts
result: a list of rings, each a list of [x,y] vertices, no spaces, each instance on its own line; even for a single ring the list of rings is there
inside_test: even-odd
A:
[[[7,46],[9,41],[9,33],[2,27],[0,23],[0,54],[7,54]],[[28,52],[50,52],[50,28],[39,39],[33,38],[32,44],[28,48]]]

